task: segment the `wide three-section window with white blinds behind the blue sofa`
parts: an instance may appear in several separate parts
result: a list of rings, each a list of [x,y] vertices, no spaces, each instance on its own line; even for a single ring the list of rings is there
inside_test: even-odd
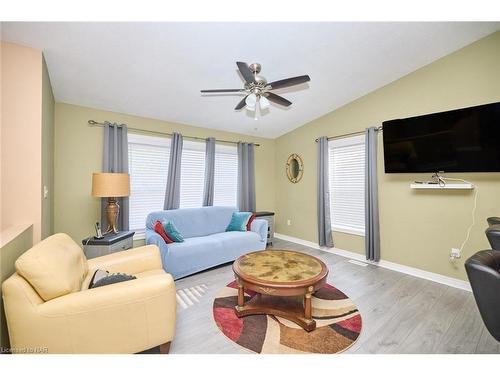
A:
[[[146,217],[163,209],[170,159],[170,138],[128,135],[130,173],[129,223],[136,238]],[[235,146],[215,146],[214,206],[236,206],[238,155]],[[205,143],[183,142],[180,207],[201,207],[205,181]]]

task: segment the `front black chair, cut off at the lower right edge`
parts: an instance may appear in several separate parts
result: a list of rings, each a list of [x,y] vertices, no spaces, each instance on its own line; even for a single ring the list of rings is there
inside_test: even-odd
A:
[[[500,251],[479,251],[465,261],[465,270],[481,318],[500,342]]]

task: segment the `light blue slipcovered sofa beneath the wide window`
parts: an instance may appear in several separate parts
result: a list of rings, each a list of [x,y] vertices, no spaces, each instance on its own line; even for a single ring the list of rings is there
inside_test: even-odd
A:
[[[152,212],[146,219],[146,244],[160,248],[163,268],[174,279],[235,260],[251,251],[264,250],[267,221],[255,219],[248,232],[226,232],[234,207],[181,208]],[[153,230],[157,221],[172,221],[184,242],[166,244]]]

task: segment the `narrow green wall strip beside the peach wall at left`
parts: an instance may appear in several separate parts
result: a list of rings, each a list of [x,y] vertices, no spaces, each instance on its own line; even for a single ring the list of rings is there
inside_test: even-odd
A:
[[[42,64],[42,239],[54,233],[54,95],[45,59]],[[48,189],[44,198],[44,186]]]

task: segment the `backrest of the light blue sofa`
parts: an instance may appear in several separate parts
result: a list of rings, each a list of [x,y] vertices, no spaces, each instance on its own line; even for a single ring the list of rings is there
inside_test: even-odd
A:
[[[153,226],[157,220],[171,221],[185,239],[208,236],[224,232],[235,211],[235,207],[222,206],[156,211],[148,215],[146,228],[154,230]]]

